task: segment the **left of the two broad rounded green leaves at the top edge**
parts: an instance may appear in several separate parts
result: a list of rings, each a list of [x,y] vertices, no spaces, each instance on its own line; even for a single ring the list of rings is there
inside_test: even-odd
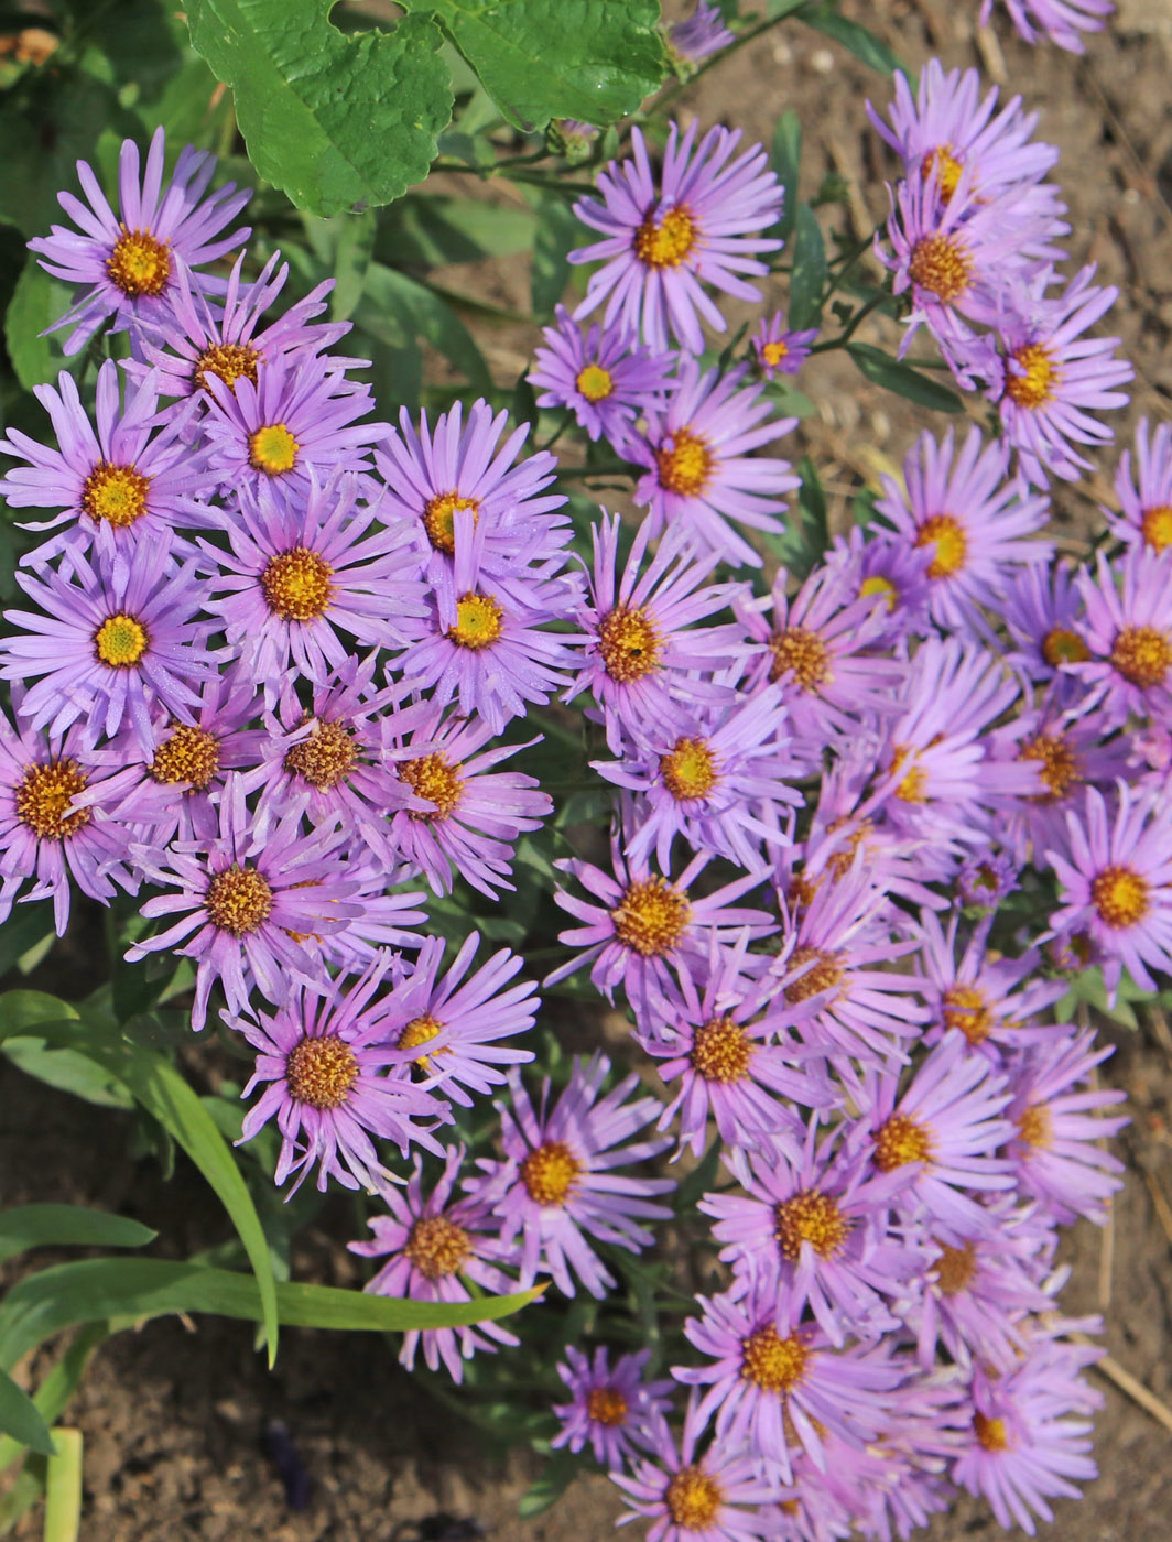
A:
[[[298,208],[390,204],[427,176],[452,116],[426,15],[342,35],[335,0],[188,0],[191,43],[233,88],[248,156]]]

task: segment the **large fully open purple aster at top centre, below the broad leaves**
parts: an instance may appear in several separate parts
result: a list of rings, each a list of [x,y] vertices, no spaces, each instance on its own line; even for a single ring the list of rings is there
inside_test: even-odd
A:
[[[703,352],[700,318],[716,332],[725,319],[702,285],[757,299],[743,273],[768,271],[759,253],[782,242],[754,236],[768,230],[782,207],[782,188],[760,145],[732,156],[740,130],[711,128],[695,143],[697,125],[668,133],[658,183],[638,128],[631,130],[631,160],[612,160],[598,174],[597,199],[574,205],[601,241],[571,251],[571,262],[605,262],[591,274],[575,316],[606,301],[606,325],[621,319],[655,353],[674,335],[691,353]]]

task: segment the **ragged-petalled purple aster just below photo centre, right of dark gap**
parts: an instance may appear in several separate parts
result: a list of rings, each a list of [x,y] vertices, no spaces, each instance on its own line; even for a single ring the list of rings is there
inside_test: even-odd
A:
[[[683,979],[695,965],[703,968],[712,945],[734,942],[740,927],[749,927],[754,938],[771,931],[771,919],[763,910],[731,907],[731,901],[757,887],[760,873],[734,879],[711,894],[689,893],[709,860],[706,853],[694,856],[674,882],[652,873],[645,862],[628,864],[617,840],[611,843],[614,876],[589,862],[558,862],[563,873],[601,904],[575,899],[561,888],[554,891],[558,905],[584,922],[563,931],[558,941],[586,951],[555,968],[544,984],[554,985],[591,962],[595,990],[614,1001],[614,988],[621,984],[635,1013],[642,1015],[672,973]]]

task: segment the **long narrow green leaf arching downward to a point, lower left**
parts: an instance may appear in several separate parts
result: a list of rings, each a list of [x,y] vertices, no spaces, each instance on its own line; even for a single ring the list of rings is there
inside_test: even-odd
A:
[[[80,1021],[77,1010],[68,1002],[43,992],[9,990],[0,996],[0,1039],[28,1033],[29,1027],[37,1038],[86,1055],[116,1076],[208,1180],[256,1272],[271,1365],[276,1359],[278,1317],[268,1240],[241,1169],[208,1110],[168,1059],[131,1044],[116,1024],[96,1029]]]

